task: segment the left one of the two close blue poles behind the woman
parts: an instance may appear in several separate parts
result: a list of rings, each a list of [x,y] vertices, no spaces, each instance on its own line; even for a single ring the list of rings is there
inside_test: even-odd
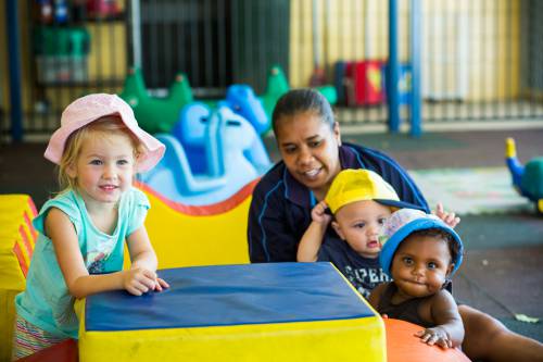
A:
[[[397,60],[397,1],[389,0],[389,74],[387,89],[389,99],[389,132],[400,130],[400,96],[397,80],[400,78],[400,62]]]

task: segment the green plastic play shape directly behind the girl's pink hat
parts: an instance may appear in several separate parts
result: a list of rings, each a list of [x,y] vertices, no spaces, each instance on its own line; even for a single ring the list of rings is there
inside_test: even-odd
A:
[[[119,97],[130,104],[140,127],[151,134],[169,133],[179,118],[179,111],[193,101],[189,80],[181,73],[176,75],[167,97],[149,96],[138,67],[128,72]]]

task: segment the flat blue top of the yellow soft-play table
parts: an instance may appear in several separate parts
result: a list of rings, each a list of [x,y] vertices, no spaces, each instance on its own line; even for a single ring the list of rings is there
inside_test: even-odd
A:
[[[87,330],[187,328],[372,316],[330,263],[213,265],[159,271],[171,288],[89,296]]]

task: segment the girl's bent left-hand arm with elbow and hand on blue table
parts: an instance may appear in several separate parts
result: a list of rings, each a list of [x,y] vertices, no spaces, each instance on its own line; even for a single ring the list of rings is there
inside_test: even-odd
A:
[[[114,289],[127,289],[134,295],[153,289],[156,275],[154,271],[130,270],[111,274],[89,275],[83,260],[74,225],[67,215],[52,208],[46,217],[46,233],[53,242],[59,266],[72,296],[85,298],[89,295]],[[132,280],[135,288],[127,288]]]

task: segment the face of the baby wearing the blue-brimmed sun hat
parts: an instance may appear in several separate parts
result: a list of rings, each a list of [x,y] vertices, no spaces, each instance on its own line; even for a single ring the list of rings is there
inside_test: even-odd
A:
[[[408,236],[392,260],[391,274],[406,298],[420,298],[440,290],[453,271],[445,240],[433,236]]]

